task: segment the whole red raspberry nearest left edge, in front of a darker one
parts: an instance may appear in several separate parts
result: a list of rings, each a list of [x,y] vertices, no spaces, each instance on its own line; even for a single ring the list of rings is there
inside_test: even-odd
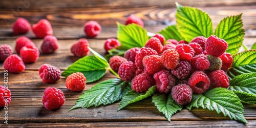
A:
[[[25,64],[18,55],[10,55],[4,61],[4,69],[10,73],[20,73],[25,70]]]

